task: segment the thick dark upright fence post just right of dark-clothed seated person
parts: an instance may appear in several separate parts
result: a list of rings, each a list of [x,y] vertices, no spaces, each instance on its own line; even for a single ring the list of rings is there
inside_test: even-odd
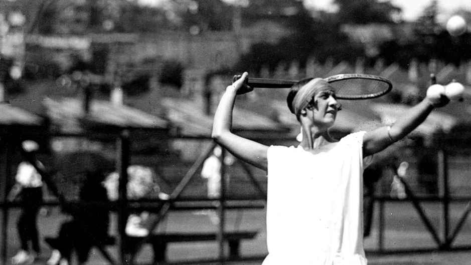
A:
[[[121,264],[132,262],[126,251],[126,223],[127,211],[127,167],[129,165],[129,131],[123,130],[117,140],[117,169],[119,172],[118,187],[118,234],[119,234],[119,257]]]

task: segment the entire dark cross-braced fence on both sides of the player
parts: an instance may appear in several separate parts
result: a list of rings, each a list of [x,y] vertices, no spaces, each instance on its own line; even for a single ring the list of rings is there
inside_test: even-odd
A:
[[[220,223],[218,226],[218,258],[217,259],[207,259],[204,260],[204,262],[207,263],[220,263],[223,264],[225,262],[229,261],[234,261],[230,257],[226,257],[224,255],[225,253],[225,239],[224,239],[224,225],[225,225],[225,214],[224,212],[228,209],[233,209],[233,208],[263,208],[264,207],[264,201],[266,200],[266,191],[262,185],[260,185],[259,181],[257,181],[252,174],[251,169],[241,163],[242,165],[242,171],[247,175],[249,178],[250,182],[253,184],[257,191],[257,195],[251,197],[251,198],[232,198],[228,197],[226,193],[226,187],[225,187],[225,181],[221,181],[221,196],[217,198],[216,200],[219,202],[217,206],[209,206],[208,202],[214,201],[214,199],[208,199],[208,198],[192,198],[192,197],[185,197],[183,198],[182,192],[184,189],[188,186],[190,183],[190,180],[199,173],[199,170],[201,169],[205,159],[212,153],[213,148],[216,146],[214,142],[211,142],[205,150],[203,150],[200,154],[200,156],[195,160],[195,162],[189,167],[188,171],[186,174],[181,178],[180,182],[176,186],[176,188],[173,190],[173,192],[170,194],[170,199],[168,200],[160,200],[160,199],[141,199],[141,200],[129,200],[127,199],[127,191],[126,191],[126,184],[127,184],[127,166],[129,165],[130,161],[130,148],[129,148],[129,131],[128,130],[122,130],[118,134],[52,134],[49,135],[49,137],[85,137],[85,138],[97,138],[97,139],[111,139],[114,137],[116,140],[116,146],[117,146],[117,170],[120,173],[120,178],[119,178],[119,199],[115,202],[106,202],[100,204],[102,207],[106,209],[110,209],[113,211],[117,212],[118,216],[118,259],[116,260],[114,258],[115,255],[111,254],[108,249],[104,248],[103,246],[98,245],[98,249],[102,253],[102,255],[111,263],[111,264],[116,264],[116,265],[121,265],[121,264],[133,264],[134,263],[134,257],[132,254],[130,255],[126,251],[126,237],[125,235],[125,225],[126,225],[126,220],[127,216],[129,213],[130,209],[149,209],[153,213],[151,214],[151,222],[149,225],[149,230],[153,230],[165,217],[166,213],[168,213],[171,210],[188,210],[188,209],[195,209],[198,206],[195,206],[194,204],[190,205],[188,204],[189,202],[194,202],[198,201],[200,204],[201,208],[210,208],[210,207],[215,207],[217,209],[217,212],[219,214],[220,218]],[[168,140],[210,140],[208,136],[184,136],[184,135],[176,135],[174,137],[168,138]],[[263,140],[267,140],[266,137],[259,138]],[[3,138],[2,140],[8,140],[7,138]],[[257,139],[255,139],[257,140]],[[271,140],[271,139],[269,139]],[[285,139],[272,139],[272,140],[277,140],[277,141],[292,141],[291,138],[285,138]],[[4,155],[6,152],[11,152],[13,146],[10,147],[5,147],[6,149],[10,148],[9,150],[4,150]],[[65,206],[67,204],[74,204],[74,205],[85,205],[86,203],[80,202],[80,201],[67,201],[66,198],[57,190],[56,185],[52,181],[52,178],[48,172],[44,170],[44,168],[38,163],[38,160],[31,156],[29,153],[25,152],[22,149],[22,153],[24,155],[24,158],[30,161],[36,169],[41,173],[43,176],[43,180],[47,183],[48,187],[52,191],[54,195],[58,198],[58,201],[54,202],[45,202],[44,205],[60,205],[60,206]],[[223,151],[222,156],[221,156],[221,176],[225,176],[224,172],[226,169],[224,161],[224,156],[225,152]],[[430,233],[432,236],[434,243],[436,247],[434,248],[423,248],[423,249],[409,249],[408,251],[430,251],[430,250],[453,250],[453,249],[471,249],[471,245],[469,246],[459,246],[459,247],[454,247],[453,246],[453,241],[457,237],[457,235],[460,232],[460,229],[462,228],[463,224],[466,222],[466,219],[471,212],[471,197],[452,197],[450,196],[449,192],[449,187],[448,187],[448,169],[447,169],[447,154],[446,150],[441,149],[438,150],[438,157],[439,157],[439,180],[440,180],[440,185],[442,188],[442,194],[439,194],[439,196],[429,196],[429,197],[420,197],[416,196],[414,192],[410,189],[408,183],[402,179],[402,183],[406,188],[406,194],[408,195],[406,199],[394,199],[388,196],[375,196],[373,199],[374,201],[379,205],[379,220],[378,220],[378,230],[379,230],[379,235],[378,235],[378,241],[377,241],[377,248],[376,250],[371,250],[368,251],[370,253],[391,253],[391,252],[404,252],[405,250],[396,250],[396,249],[386,249],[384,246],[384,233],[387,230],[387,227],[385,227],[385,213],[384,213],[384,207],[388,202],[403,202],[403,203],[412,203],[415,210],[420,216],[420,219],[423,222],[423,225],[426,227],[427,231]],[[8,162],[5,162],[7,164],[4,164],[6,168],[9,167]],[[8,172],[8,170],[4,171],[3,173],[10,174],[11,172]],[[6,189],[6,187],[9,187],[11,183],[9,183],[9,178],[5,177],[4,183],[0,183]],[[5,191],[4,191],[5,192]],[[6,192],[5,192],[6,195]],[[2,240],[2,249],[1,249],[1,257],[3,264],[7,264],[7,245],[8,245],[8,240],[7,240],[7,225],[6,223],[8,222],[9,214],[8,211],[11,207],[19,207],[21,206],[21,203],[12,203],[12,202],[7,202],[6,196],[3,198],[4,200],[1,202],[0,206],[2,207],[3,210],[3,225],[2,225],[2,234],[3,238]],[[430,221],[430,218],[426,215],[423,207],[421,206],[421,202],[434,202],[434,203],[439,203],[442,208],[442,213],[441,213],[441,220],[442,220],[442,227],[441,230],[438,230]],[[450,226],[450,220],[449,220],[449,214],[450,214],[450,203],[453,202],[467,202],[467,205],[462,212],[461,216],[459,217],[459,220],[457,224],[454,226],[453,229]],[[187,203],[187,204],[185,204]],[[205,204],[206,203],[206,204]],[[144,243],[146,243],[149,240],[149,236],[142,238],[142,240],[139,241],[139,246],[142,246]],[[262,260],[263,256],[246,256],[246,257],[241,257],[239,260]],[[175,263],[198,263],[202,262],[202,260],[194,260],[194,261],[185,261],[185,262],[175,262]]]

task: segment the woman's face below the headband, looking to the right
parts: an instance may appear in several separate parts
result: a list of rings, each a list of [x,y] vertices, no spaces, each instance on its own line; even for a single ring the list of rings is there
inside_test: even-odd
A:
[[[334,125],[341,105],[337,102],[334,91],[323,90],[312,98],[309,108],[312,110],[314,124],[322,127],[326,125],[331,127]]]

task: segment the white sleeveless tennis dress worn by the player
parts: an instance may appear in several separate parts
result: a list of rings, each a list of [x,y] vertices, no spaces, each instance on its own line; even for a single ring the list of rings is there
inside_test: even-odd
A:
[[[300,146],[268,148],[268,256],[263,265],[367,263],[364,134],[324,142],[314,153]]]

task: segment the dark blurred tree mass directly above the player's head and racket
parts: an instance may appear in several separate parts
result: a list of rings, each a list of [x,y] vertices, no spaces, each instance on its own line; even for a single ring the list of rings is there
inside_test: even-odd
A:
[[[361,47],[350,43],[340,31],[340,24],[333,15],[312,18],[306,11],[301,11],[290,18],[288,25],[293,31],[290,36],[277,44],[253,45],[241,57],[237,68],[259,72],[264,66],[273,70],[283,62],[297,61],[302,67],[309,58],[316,58],[319,62],[329,58],[335,62],[353,62],[363,55]]]

